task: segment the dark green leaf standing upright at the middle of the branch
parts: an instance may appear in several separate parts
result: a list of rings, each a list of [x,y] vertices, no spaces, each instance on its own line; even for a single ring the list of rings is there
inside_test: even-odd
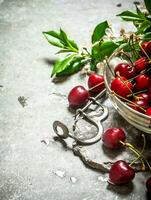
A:
[[[101,40],[102,37],[106,35],[105,31],[107,28],[109,28],[109,24],[107,21],[104,21],[95,27],[94,32],[92,34],[92,44]]]

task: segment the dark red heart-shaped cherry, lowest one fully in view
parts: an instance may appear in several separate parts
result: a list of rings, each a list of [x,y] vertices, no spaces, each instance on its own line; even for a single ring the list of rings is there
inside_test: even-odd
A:
[[[123,160],[115,162],[109,172],[109,182],[114,185],[129,183],[135,177],[135,171]]]

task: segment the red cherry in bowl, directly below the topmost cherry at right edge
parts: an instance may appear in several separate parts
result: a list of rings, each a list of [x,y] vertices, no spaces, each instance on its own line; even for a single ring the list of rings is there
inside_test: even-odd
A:
[[[147,69],[149,66],[149,63],[148,63],[147,58],[142,57],[134,62],[134,66],[135,66],[137,72],[140,72],[142,70]]]

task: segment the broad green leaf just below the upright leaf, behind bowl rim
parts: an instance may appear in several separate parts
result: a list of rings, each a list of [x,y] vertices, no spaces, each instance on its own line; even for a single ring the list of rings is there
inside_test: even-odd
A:
[[[113,41],[103,41],[97,43],[92,48],[92,58],[102,61],[106,56],[109,57],[119,45]]]

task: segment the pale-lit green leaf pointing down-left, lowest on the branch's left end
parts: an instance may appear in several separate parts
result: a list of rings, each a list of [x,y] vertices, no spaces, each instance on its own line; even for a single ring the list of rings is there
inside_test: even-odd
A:
[[[61,73],[62,71],[64,71],[70,65],[70,62],[75,56],[76,54],[71,54],[68,57],[65,57],[63,59],[56,61],[52,70],[51,77],[53,75],[57,75],[58,73]]]

